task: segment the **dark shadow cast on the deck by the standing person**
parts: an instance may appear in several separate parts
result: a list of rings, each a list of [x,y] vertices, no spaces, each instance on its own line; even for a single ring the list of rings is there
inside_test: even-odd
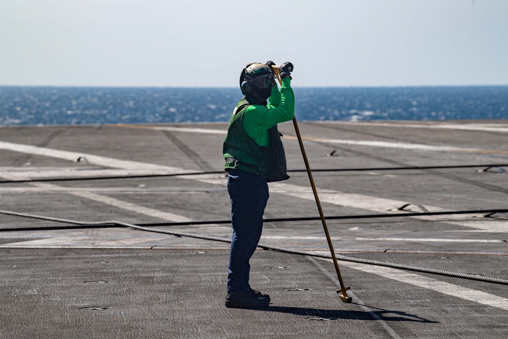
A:
[[[355,304],[355,303],[353,303]],[[384,320],[384,321],[412,321],[418,323],[438,323],[424,319],[414,314],[408,314],[402,311],[390,311],[378,309],[377,307],[367,306],[377,311],[348,311],[348,310],[320,310],[308,309],[305,307],[285,307],[270,306],[266,309],[259,309],[265,312],[290,313],[297,316],[309,317],[309,320],[338,320],[338,319],[355,319],[355,320]]]

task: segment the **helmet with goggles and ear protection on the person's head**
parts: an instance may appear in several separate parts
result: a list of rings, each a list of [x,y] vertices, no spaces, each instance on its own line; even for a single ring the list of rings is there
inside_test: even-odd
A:
[[[266,100],[272,93],[273,80],[273,72],[265,64],[248,64],[240,74],[240,89],[246,96]]]

